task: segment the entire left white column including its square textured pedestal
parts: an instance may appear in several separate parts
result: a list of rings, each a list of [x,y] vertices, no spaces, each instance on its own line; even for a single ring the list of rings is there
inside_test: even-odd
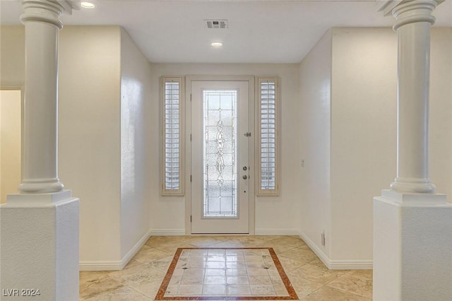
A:
[[[59,16],[77,2],[23,0],[23,180],[0,205],[1,300],[78,300],[79,200],[57,175]]]

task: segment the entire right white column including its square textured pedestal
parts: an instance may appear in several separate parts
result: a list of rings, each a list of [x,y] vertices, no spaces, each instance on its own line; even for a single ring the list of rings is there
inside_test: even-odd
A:
[[[396,18],[397,177],[374,198],[375,301],[452,300],[452,205],[429,179],[430,27],[443,0],[376,1]]]

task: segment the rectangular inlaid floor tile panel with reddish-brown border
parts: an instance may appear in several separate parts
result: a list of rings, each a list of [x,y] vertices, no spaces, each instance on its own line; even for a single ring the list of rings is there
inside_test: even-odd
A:
[[[298,300],[273,248],[178,248],[155,300]]]

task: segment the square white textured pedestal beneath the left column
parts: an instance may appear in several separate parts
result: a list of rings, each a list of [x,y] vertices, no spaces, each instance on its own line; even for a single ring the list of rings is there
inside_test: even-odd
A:
[[[78,206],[71,191],[13,194],[0,206],[0,299],[78,300]]]

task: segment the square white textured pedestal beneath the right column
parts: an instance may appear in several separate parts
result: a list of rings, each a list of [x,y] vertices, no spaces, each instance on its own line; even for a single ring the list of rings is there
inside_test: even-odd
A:
[[[374,300],[452,298],[452,204],[443,194],[374,198]]]

